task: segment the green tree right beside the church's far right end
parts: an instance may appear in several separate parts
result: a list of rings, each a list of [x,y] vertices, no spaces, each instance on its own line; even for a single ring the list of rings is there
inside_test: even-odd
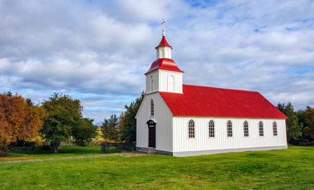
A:
[[[288,102],[288,104],[279,103],[277,105],[277,108],[288,117],[288,119],[286,119],[288,143],[296,142],[296,140],[298,140],[302,136],[303,124],[299,124],[297,113],[293,110],[294,108],[291,102]]]

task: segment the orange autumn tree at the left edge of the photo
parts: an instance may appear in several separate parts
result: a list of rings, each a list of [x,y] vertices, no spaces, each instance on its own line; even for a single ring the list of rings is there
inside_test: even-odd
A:
[[[47,113],[43,107],[26,102],[21,95],[0,94],[0,156],[19,141],[30,141],[38,136]]]

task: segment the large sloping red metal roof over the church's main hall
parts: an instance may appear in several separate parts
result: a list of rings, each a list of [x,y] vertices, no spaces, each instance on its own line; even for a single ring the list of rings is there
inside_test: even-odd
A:
[[[183,93],[159,93],[174,116],[287,118],[256,91],[183,85]]]

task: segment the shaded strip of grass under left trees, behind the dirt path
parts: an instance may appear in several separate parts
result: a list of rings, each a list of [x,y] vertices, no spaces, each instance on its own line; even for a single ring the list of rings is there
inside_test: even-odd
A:
[[[91,156],[101,154],[101,146],[60,146],[58,153],[50,153],[50,150],[42,150],[35,147],[34,150],[10,150],[1,161],[28,160],[43,158],[59,158],[69,156]]]

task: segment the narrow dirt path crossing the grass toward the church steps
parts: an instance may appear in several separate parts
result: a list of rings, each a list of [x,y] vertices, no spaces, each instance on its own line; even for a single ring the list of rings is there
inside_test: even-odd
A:
[[[9,164],[9,163],[20,163],[20,162],[35,162],[35,161],[47,161],[47,160],[66,160],[73,158],[96,158],[96,157],[107,157],[107,156],[123,156],[123,157],[132,157],[132,156],[145,156],[143,153],[114,153],[114,154],[102,154],[102,155],[93,155],[93,156],[71,156],[71,157],[61,157],[61,158],[46,158],[46,159],[30,159],[30,160],[13,160],[13,161],[3,161],[0,164]]]

